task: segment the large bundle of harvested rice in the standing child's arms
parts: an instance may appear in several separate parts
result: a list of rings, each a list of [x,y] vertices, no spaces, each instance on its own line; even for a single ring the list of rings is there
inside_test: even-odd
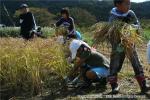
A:
[[[99,28],[98,28],[99,26]],[[94,43],[103,41],[120,44],[127,54],[131,54],[135,44],[142,42],[138,29],[123,22],[96,24]]]

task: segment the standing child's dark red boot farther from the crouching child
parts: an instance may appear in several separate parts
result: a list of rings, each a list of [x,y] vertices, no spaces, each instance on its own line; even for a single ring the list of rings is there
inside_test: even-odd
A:
[[[142,94],[144,94],[144,93],[146,93],[146,92],[148,92],[150,90],[150,86],[148,86],[146,84],[146,80],[145,80],[144,75],[138,75],[138,76],[136,76],[136,80],[138,81],[138,84],[140,86]]]

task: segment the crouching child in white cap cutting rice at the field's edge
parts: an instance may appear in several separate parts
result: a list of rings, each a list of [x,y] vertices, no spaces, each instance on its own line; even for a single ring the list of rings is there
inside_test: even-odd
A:
[[[70,76],[80,68],[83,80],[88,83],[88,85],[94,81],[98,81],[101,82],[100,84],[106,86],[106,78],[109,75],[109,60],[96,50],[92,50],[91,47],[82,40],[74,39],[69,48],[72,60],[78,59]]]

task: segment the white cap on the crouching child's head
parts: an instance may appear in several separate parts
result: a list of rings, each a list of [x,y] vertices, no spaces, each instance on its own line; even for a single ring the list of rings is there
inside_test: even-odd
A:
[[[71,51],[71,58],[72,60],[76,58],[77,50],[80,48],[80,46],[84,44],[85,46],[91,48],[87,43],[83,42],[82,40],[76,40],[74,39],[70,44],[70,51]]]

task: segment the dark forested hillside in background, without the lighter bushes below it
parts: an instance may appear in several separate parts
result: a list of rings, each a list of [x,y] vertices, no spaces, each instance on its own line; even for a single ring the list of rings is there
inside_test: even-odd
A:
[[[111,1],[99,0],[1,0],[0,10],[2,10],[2,13],[0,15],[0,23],[6,25],[11,24],[5,14],[6,12],[3,11],[3,4],[5,4],[10,15],[13,16],[19,5],[22,3],[27,3],[30,7],[46,8],[50,13],[55,15],[58,15],[60,9],[63,7],[81,8],[95,16],[97,21],[106,21],[108,19],[109,11],[113,7]],[[135,11],[138,18],[150,19],[150,11],[147,11],[147,9],[150,9],[150,2],[132,3],[132,9]]]

